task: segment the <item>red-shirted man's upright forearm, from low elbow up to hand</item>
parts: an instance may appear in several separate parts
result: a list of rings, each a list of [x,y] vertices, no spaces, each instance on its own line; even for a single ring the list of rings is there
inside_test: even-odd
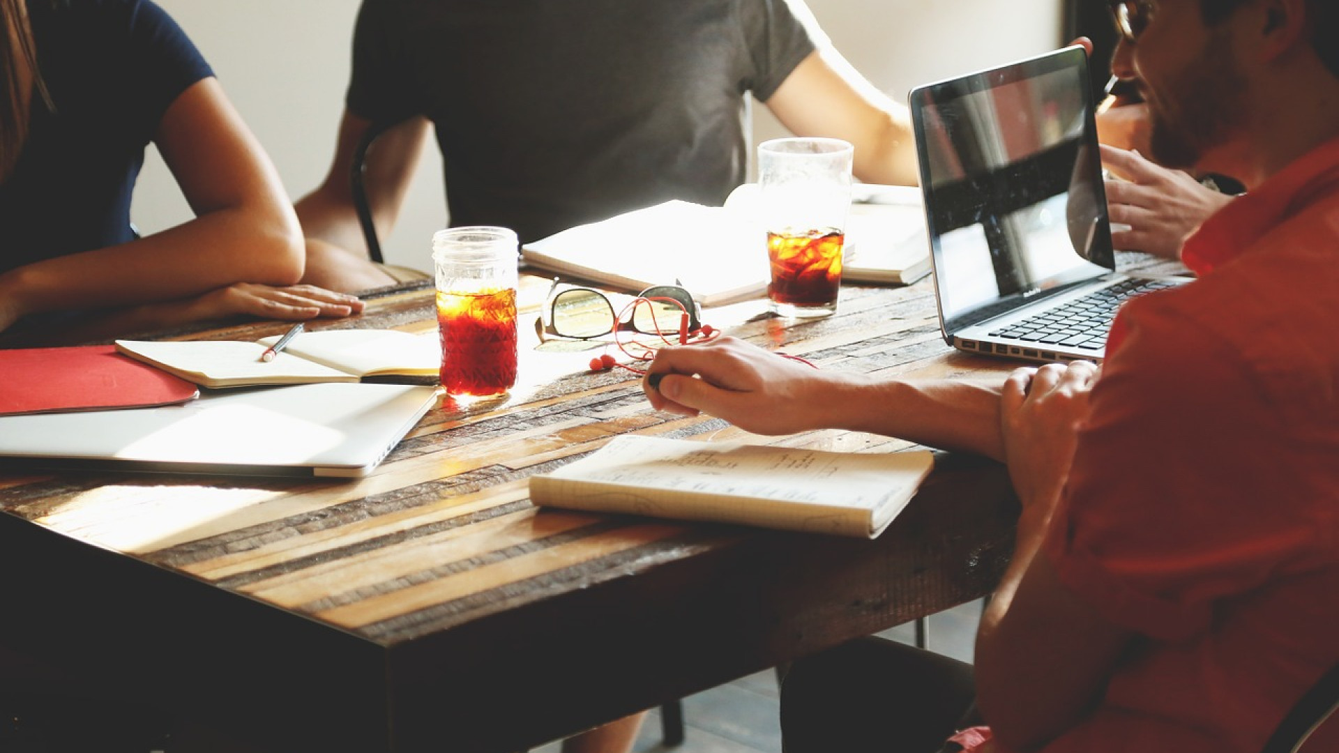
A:
[[[976,693],[996,740],[1044,746],[1082,718],[1110,677],[1125,631],[1066,587],[1043,552],[1101,371],[1089,362],[1018,370],[1000,395],[1000,434],[1023,508],[1010,565],[976,639]]]

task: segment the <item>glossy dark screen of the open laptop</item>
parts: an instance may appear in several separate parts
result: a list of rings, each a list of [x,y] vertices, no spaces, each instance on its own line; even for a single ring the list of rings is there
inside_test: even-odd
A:
[[[911,92],[945,332],[1115,268],[1082,48]]]

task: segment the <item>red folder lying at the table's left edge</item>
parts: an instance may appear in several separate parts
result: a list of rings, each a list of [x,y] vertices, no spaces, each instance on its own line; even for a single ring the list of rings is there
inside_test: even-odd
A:
[[[149,407],[200,397],[195,385],[115,346],[0,350],[0,415]]]

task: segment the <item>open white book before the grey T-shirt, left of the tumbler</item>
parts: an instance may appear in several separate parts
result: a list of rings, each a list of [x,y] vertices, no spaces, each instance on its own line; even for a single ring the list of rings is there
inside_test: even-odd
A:
[[[521,247],[532,267],[629,293],[678,280],[698,303],[767,292],[767,238],[734,212],[667,201]]]

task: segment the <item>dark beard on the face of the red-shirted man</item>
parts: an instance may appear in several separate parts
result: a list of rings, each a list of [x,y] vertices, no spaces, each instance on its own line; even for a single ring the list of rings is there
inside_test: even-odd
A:
[[[1194,167],[1243,121],[1245,86],[1227,32],[1209,36],[1208,54],[1150,87],[1149,149],[1166,167]]]

